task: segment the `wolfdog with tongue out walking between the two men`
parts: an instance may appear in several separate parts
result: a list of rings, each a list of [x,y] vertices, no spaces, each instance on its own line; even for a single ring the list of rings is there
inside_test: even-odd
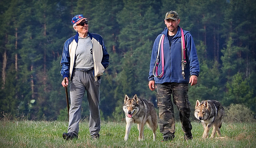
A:
[[[136,94],[133,98],[129,98],[125,95],[123,110],[125,112],[126,120],[125,141],[128,139],[132,123],[138,124],[139,141],[144,139],[143,130],[146,123],[153,131],[153,140],[156,140],[158,117],[152,102],[145,99],[139,99]]]

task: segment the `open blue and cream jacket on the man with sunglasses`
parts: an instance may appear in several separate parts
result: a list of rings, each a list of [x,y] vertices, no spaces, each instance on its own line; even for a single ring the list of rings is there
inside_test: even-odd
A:
[[[89,33],[88,35],[92,41],[92,57],[94,65],[94,80],[95,82],[100,79],[100,75],[103,75],[106,67],[109,66],[109,54],[104,45],[103,38],[99,34]],[[62,69],[60,71],[63,78],[67,77],[71,80],[75,57],[76,57],[76,48],[78,43],[78,33],[75,36],[67,39],[64,43],[62,57],[60,65]]]

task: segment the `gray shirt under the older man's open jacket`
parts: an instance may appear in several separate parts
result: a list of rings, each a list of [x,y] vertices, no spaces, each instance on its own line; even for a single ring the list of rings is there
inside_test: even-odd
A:
[[[78,39],[74,68],[93,68],[92,41],[89,36]]]

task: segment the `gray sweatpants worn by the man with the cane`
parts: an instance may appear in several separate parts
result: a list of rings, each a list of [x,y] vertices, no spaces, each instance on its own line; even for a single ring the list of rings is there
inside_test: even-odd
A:
[[[93,70],[88,72],[73,71],[70,83],[70,110],[68,132],[78,135],[81,119],[81,104],[85,91],[89,103],[90,119],[89,131],[92,135],[99,135],[100,131],[100,80],[94,82]]]

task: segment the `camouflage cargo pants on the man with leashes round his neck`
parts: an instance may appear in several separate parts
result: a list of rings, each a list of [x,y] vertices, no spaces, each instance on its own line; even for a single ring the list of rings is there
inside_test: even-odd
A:
[[[191,132],[190,102],[188,98],[188,83],[157,84],[157,100],[159,107],[159,128],[165,136],[175,137],[175,119],[172,98],[179,110],[181,128],[185,133]]]

